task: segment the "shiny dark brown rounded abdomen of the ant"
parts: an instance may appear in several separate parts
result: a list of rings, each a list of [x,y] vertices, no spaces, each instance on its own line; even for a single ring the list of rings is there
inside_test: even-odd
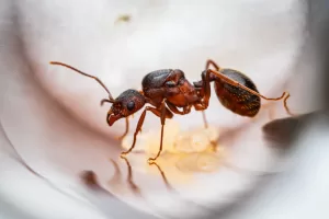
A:
[[[240,84],[258,92],[251,79],[243,73],[232,69],[220,69],[219,71]],[[259,96],[251,94],[241,88],[230,85],[220,79],[214,80],[214,88],[219,102],[226,108],[241,116],[253,117],[258,114],[261,107],[261,100]]]

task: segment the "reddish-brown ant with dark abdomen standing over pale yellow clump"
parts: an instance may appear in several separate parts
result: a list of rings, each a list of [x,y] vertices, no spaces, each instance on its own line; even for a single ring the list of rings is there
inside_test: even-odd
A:
[[[235,114],[254,117],[261,108],[261,99],[266,101],[280,101],[285,96],[284,107],[286,112],[292,115],[286,104],[286,100],[290,97],[288,93],[283,92],[280,97],[275,99],[265,97],[259,93],[250,78],[237,70],[220,68],[211,59],[206,61],[205,70],[201,74],[201,81],[194,82],[193,84],[188,81],[184,72],[180,69],[161,69],[144,77],[141,91],[128,89],[116,99],[113,99],[109,89],[99,78],[84,73],[63,62],[50,61],[50,64],[64,66],[82,76],[92,78],[105,89],[109,99],[103,99],[101,105],[105,102],[112,104],[106,116],[109,126],[112,126],[121,118],[126,118],[126,131],[121,138],[125,137],[128,132],[128,116],[141,110],[145,104],[151,105],[146,106],[139,117],[132,147],[127,151],[122,152],[123,157],[134,149],[146,113],[151,112],[161,120],[161,139],[157,155],[148,159],[150,164],[157,160],[162,151],[164,122],[166,119],[171,119],[173,114],[189,114],[192,106],[194,106],[195,111],[202,111],[205,128],[207,128],[204,111],[208,107],[211,82],[214,82],[215,92],[219,102]],[[213,66],[215,70],[209,69],[211,66]]]

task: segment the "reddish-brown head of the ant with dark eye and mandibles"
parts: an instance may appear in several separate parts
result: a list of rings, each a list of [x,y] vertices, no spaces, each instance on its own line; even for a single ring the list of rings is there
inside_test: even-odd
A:
[[[133,115],[146,103],[145,96],[136,90],[126,90],[115,100],[103,100],[113,103],[107,113],[107,123],[112,126],[116,120]]]

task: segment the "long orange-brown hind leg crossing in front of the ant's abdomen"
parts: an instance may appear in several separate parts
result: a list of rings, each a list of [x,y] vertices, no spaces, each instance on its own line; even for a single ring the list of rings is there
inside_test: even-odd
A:
[[[218,71],[215,71],[215,70],[212,70],[212,69],[207,69],[207,71],[206,71],[206,84],[209,84],[209,82],[211,82],[211,80],[209,80],[211,73],[213,73],[213,76],[215,76],[215,77],[222,79],[222,80],[225,81],[226,83],[229,83],[230,85],[234,85],[234,87],[243,89],[243,90],[246,90],[246,91],[252,93],[253,95],[257,95],[257,96],[259,96],[259,97],[262,97],[262,99],[264,99],[264,100],[266,100],[266,101],[280,101],[280,100],[284,99],[285,95],[287,94],[286,97],[283,100],[283,102],[284,102],[284,107],[285,107],[286,112],[291,115],[291,112],[290,112],[290,110],[288,110],[288,107],[287,107],[287,104],[286,104],[286,100],[290,97],[290,93],[283,92],[282,95],[281,95],[280,97],[270,99],[270,97],[263,96],[263,95],[261,95],[260,93],[258,93],[258,92],[256,92],[256,91],[253,91],[253,90],[251,90],[251,89],[249,89],[249,88],[247,88],[247,87],[240,84],[239,82],[237,82],[237,81],[235,81],[235,80],[228,78],[227,76],[224,76],[223,73],[220,73],[220,72],[218,72]],[[207,92],[207,91],[206,91],[206,92]],[[207,95],[205,95],[205,96],[207,96]]]

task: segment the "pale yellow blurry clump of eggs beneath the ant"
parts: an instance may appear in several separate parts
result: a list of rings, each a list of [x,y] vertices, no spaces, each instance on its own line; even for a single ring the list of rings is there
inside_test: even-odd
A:
[[[207,129],[182,130],[179,123],[168,120],[164,126],[163,149],[161,155],[157,159],[157,164],[169,183],[192,183],[194,173],[218,171],[225,154],[224,148],[218,145],[216,145],[216,152],[214,151],[218,137],[219,129],[212,126]],[[127,150],[132,142],[133,135],[128,135],[123,139],[122,147]],[[141,157],[147,159],[158,152],[159,145],[160,129],[152,129],[137,136],[134,150],[145,152]],[[160,175],[155,165],[149,165],[146,161],[143,163],[145,164],[140,168],[148,173]]]

